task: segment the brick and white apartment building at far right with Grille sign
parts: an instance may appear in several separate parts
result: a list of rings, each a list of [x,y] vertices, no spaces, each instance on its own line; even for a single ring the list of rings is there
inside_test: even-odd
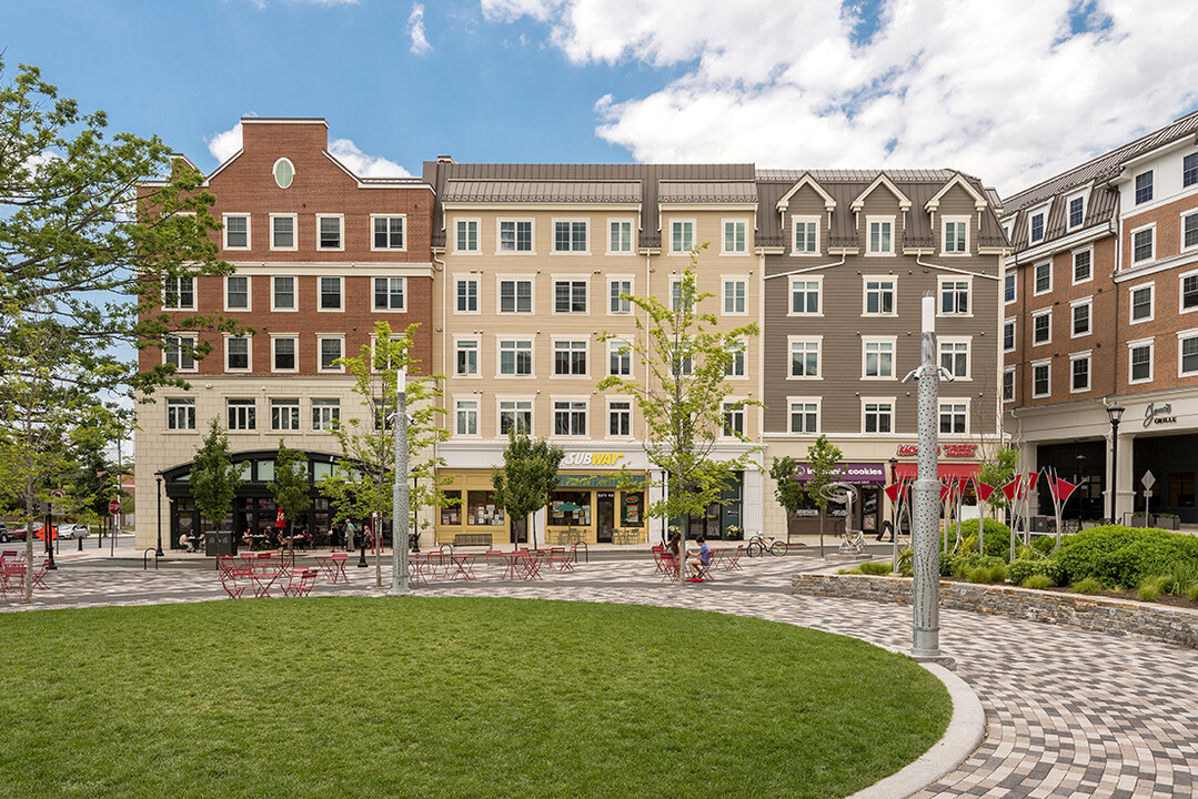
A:
[[[1004,207],[1004,420],[1024,465],[1081,482],[1085,517],[1143,510],[1151,472],[1152,513],[1198,521],[1198,114]]]

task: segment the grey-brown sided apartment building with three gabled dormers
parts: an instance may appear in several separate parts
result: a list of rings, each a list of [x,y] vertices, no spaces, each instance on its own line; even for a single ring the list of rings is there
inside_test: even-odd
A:
[[[942,478],[974,474],[999,444],[998,196],[952,170],[761,170],[757,188],[767,461],[805,465],[825,434],[860,490],[854,522],[879,529],[881,489],[916,468],[918,385],[902,380],[920,363],[925,295],[954,377],[940,382]],[[767,508],[766,527],[786,529]]]

